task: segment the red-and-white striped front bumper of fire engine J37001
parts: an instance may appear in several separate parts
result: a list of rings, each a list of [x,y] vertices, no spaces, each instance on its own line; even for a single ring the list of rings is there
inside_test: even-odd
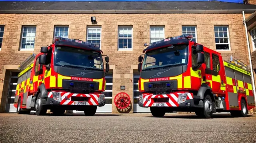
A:
[[[181,98],[179,95],[186,94],[186,98]],[[201,106],[194,104],[192,93],[171,93],[171,94],[143,94],[140,95],[139,106],[143,108],[148,107],[173,107],[173,108],[201,108]],[[160,98],[165,98],[168,102],[156,102]],[[142,101],[143,100],[143,101]]]

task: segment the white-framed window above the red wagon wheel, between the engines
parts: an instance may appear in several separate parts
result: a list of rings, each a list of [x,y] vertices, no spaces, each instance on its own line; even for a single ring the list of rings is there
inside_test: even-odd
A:
[[[118,27],[118,50],[132,50],[132,26]]]

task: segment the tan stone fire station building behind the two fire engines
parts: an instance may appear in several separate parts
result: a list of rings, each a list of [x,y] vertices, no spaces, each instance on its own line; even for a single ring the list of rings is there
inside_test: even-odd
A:
[[[253,4],[218,1],[0,2],[0,112],[16,112],[12,103],[19,64],[58,34],[98,43],[110,57],[108,104],[97,112],[118,112],[112,100],[119,92],[130,96],[129,113],[149,112],[137,104],[137,64],[144,43],[191,33],[225,60],[232,55],[249,64],[242,12],[248,18],[255,10]]]

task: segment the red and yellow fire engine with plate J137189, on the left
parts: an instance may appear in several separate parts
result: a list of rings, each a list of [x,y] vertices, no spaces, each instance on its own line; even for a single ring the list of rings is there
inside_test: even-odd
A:
[[[21,65],[14,106],[18,114],[43,115],[51,110],[62,115],[65,110],[84,111],[93,116],[97,106],[105,105],[105,73],[109,58],[96,44],[78,39],[55,37],[52,45],[41,47]]]

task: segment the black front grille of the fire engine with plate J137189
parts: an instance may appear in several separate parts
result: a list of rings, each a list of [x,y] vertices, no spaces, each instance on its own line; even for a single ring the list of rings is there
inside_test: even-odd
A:
[[[90,85],[93,84],[93,87]],[[78,82],[72,80],[62,80],[62,88],[70,89],[70,91],[75,91],[76,93],[81,93],[83,91],[98,90],[98,82]]]

